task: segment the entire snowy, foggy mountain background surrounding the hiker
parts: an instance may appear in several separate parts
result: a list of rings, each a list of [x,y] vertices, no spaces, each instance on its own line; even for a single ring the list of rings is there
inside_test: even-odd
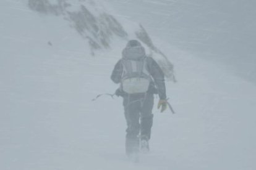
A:
[[[0,169],[255,169],[254,6],[0,1]],[[160,113],[154,95],[138,163],[125,152],[122,97],[111,97],[129,39],[164,71],[176,112]]]

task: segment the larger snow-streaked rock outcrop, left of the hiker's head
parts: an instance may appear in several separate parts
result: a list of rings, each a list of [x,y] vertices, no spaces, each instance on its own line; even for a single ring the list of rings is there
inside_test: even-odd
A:
[[[77,1],[79,8],[70,10],[72,4],[67,0],[49,2],[48,0],[29,0],[30,9],[41,14],[63,16],[74,26],[75,30],[87,39],[92,49],[92,54],[96,49],[108,48],[112,36],[126,38],[127,33],[117,20],[106,12],[92,12],[89,10],[96,7],[93,1]],[[88,7],[87,7],[88,6]]]

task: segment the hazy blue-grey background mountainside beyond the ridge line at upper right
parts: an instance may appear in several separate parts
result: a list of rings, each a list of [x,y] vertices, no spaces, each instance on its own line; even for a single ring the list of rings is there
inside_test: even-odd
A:
[[[156,38],[202,59],[224,63],[233,74],[256,83],[256,1],[106,1],[119,17],[142,23],[150,34],[157,33]]]

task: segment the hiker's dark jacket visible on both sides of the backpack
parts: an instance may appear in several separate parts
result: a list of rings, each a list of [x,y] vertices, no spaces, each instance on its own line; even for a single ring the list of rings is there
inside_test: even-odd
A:
[[[166,99],[166,87],[164,83],[163,71],[159,67],[158,63],[156,63],[151,57],[147,57],[146,61],[148,72],[153,78],[153,82],[150,84],[148,92],[158,94],[160,99]],[[111,75],[111,79],[114,81],[114,83],[121,83],[123,69],[122,59],[120,59],[114,66],[114,70]],[[118,90],[120,89],[117,89],[117,91]]]

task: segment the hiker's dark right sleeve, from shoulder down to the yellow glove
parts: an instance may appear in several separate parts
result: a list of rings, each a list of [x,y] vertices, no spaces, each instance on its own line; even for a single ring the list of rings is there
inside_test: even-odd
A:
[[[148,57],[148,68],[150,71],[150,75],[152,76],[156,88],[158,90],[158,95],[160,97],[160,100],[166,99],[166,87],[164,83],[164,73],[161,70],[160,66],[154,59],[151,57]]]

